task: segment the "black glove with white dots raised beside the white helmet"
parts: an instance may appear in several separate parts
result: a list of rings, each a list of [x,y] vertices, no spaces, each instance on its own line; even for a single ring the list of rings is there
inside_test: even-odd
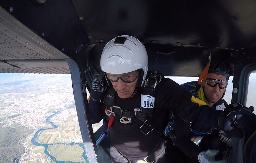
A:
[[[103,72],[102,72],[103,73]],[[103,94],[108,89],[108,83],[104,74],[97,74],[92,79],[92,91],[90,93],[93,100],[101,100]]]

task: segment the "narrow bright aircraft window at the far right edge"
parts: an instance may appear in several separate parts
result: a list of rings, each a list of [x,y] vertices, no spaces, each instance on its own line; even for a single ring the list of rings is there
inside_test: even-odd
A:
[[[255,101],[255,81],[256,81],[256,71],[252,71],[249,76],[249,85],[248,85],[248,92],[247,92],[247,100],[246,100],[246,107],[253,106],[254,111],[253,113],[256,114],[256,101]]]

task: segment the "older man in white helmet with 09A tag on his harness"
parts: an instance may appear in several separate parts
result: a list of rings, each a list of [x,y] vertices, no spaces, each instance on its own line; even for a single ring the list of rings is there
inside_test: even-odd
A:
[[[162,131],[169,110],[187,122],[196,120],[218,129],[233,120],[209,106],[199,107],[192,102],[195,98],[180,85],[156,71],[148,72],[146,48],[132,36],[123,35],[109,41],[102,51],[100,68],[104,75],[93,78],[89,112],[92,123],[109,116],[113,163],[138,160],[165,163],[166,142]],[[237,130],[225,127],[232,132]],[[234,136],[240,137],[241,132],[237,133]],[[207,151],[199,161],[214,163],[214,154],[216,151]]]

